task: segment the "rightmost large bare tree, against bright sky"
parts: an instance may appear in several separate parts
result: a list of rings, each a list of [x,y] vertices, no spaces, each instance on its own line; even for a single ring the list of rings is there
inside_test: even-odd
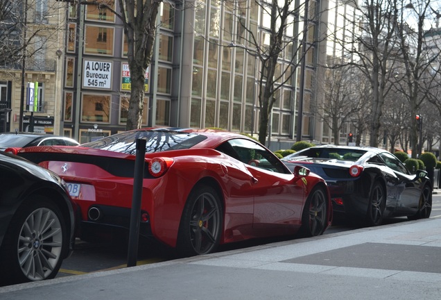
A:
[[[421,106],[430,99],[431,90],[440,86],[439,58],[441,47],[430,38],[433,26],[433,8],[437,1],[418,0],[413,3],[398,1],[396,3],[397,36],[399,38],[399,76],[397,88],[406,95],[410,110],[410,146],[412,157],[416,158],[422,149],[417,149],[418,125],[415,115],[422,114]],[[435,15],[434,17],[439,17]],[[438,24],[438,23],[437,23]],[[436,29],[438,30],[438,28]],[[438,68],[433,64],[438,62]]]

